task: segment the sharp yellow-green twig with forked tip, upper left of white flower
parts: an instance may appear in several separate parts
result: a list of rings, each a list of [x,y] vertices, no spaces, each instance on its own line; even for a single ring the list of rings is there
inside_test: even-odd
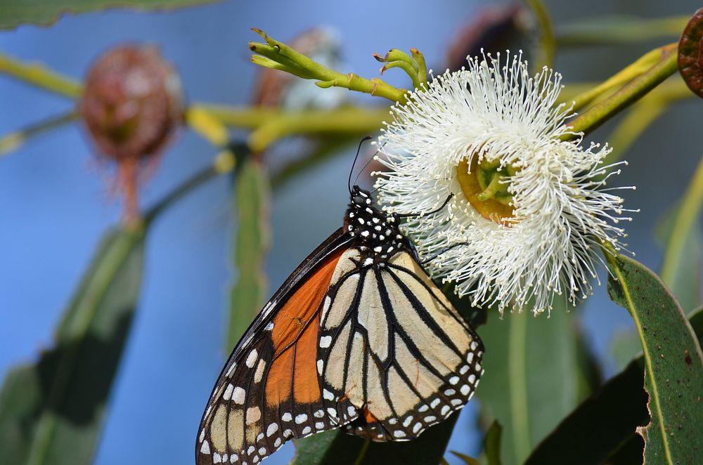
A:
[[[266,44],[250,42],[249,48],[258,55],[263,55],[268,60],[260,60],[256,56],[252,61],[257,65],[271,67],[295,74],[304,79],[316,79],[316,84],[324,89],[328,87],[344,87],[350,91],[369,93],[372,96],[385,97],[394,102],[405,101],[405,89],[397,89],[381,79],[366,79],[356,74],[342,74],[330,70],[328,67],[317,63],[311,58],[299,53],[294,48],[279,42],[262,30],[253,29],[264,38]]]

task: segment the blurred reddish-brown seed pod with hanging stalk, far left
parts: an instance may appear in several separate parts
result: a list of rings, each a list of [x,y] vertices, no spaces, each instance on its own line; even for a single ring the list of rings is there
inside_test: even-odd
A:
[[[153,46],[111,48],[91,66],[79,112],[96,150],[117,162],[124,216],[136,220],[143,162],[155,159],[183,120],[178,74]]]

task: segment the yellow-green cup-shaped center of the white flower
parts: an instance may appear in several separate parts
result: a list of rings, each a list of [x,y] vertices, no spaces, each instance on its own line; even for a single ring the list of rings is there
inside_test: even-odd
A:
[[[467,202],[484,218],[504,226],[512,223],[505,221],[513,217],[512,195],[508,192],[510,176],[515,174],[511,166],[501,167],[498,162],[485,159],[478,162],[478,156],[472,157],[471,166],[463,159],[456,166],[461,192]]]

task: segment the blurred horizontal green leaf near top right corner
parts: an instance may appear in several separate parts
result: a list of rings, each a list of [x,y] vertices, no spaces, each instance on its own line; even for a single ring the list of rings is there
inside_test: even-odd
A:
[[[560,27],[556,41],[560,46],[627,44],[652,39],[678,37],[690,16],[636,18],[623,15],[589,18]]]

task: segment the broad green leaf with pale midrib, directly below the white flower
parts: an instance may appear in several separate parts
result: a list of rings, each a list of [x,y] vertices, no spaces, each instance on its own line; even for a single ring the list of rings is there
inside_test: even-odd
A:
[[[505,315],[479,334],[486,346],[486,374],[477,390],[482,417],[503,425],[503,463],[522,463],[586,395],[591,374],[580,363],[585,355],[572,314],[562,307],[549,318]]]

